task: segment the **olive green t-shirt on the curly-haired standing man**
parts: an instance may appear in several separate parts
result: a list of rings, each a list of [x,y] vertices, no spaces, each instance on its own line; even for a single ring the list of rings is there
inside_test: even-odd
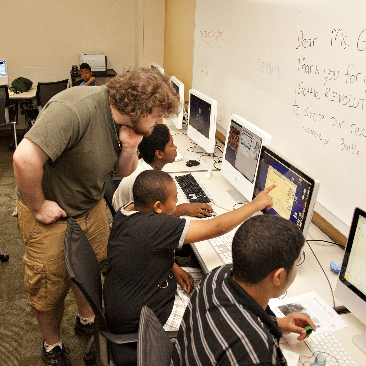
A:
[[[104,86],[76,86],[42,109],[25,137],[48,156],[42,190],[68,217],[86,214],[104,195],[105,175],[118,166],[120,148]],[[120,126],[115,124],[117,135]],[[16,187],[21,202],[26,204]]]

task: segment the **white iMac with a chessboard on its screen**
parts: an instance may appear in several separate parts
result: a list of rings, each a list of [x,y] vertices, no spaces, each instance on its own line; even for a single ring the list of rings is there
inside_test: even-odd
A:
[[[236,202],[251,201],[262,145],[272,136],[238,115],[230,116],[221,174],[236,188],[227,193]]]

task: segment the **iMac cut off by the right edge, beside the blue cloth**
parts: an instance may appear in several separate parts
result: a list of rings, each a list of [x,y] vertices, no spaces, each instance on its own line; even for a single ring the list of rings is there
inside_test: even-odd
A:
[[[334,295],[366,324],[366,212],[356,207]],[[352,342],[366,354],[366,333]]]

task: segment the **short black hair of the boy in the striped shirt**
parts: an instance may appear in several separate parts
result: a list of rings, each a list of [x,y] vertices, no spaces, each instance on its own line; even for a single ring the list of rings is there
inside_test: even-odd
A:
[[[233,276],[256,284],[274,269],[291,271],[305,238],[290,220],[258,215],[244,221],[232,241]]]

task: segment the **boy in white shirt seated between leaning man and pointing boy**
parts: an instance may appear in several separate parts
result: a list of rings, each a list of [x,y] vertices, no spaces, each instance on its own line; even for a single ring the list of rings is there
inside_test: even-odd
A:
[[[120,207],[133,200],[132,186],[139,173],[148,169],[161,170],[165,164],[173,163],[177,156],[176,149],[177,147],[174,145],[169,128],[165,124],[156,125],[153,133],[149,137],[144,137],[138,146],[142,158],[138,161],[136,170],[128,177],[122,179],[113,194],[113,208],[117,211]],[[212,216],[210,212],[205,210],[213,212],[212,207],[207,203],[181,203],[172,215]]]

